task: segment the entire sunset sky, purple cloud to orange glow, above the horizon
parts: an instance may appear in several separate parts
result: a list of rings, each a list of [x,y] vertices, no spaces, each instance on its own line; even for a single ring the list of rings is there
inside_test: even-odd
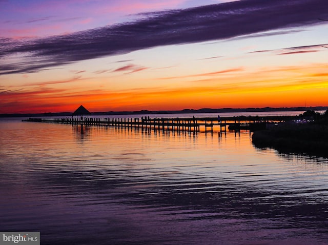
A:
[[[328,106],[327,0],[0,0],[0,113]]]

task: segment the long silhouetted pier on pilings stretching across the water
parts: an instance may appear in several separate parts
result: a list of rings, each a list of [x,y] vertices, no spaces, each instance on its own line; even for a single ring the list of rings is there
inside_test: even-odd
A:
[[[214,128],[220,132],[229,130],[250,130],[255,131],[265,129],[268,124],[273,124],[271,120],[258,120],[256,117],[240,119],[240,117],[221,118],[29,118],[23,121],[53,124],[71,125],[96,125],[110,126],[116,128],[141,128],[154,130],[170,130],[182,132],[213,132]],[[278,121],[283,121],[282,119]],[[277,122],[277,120],[275,120]]]

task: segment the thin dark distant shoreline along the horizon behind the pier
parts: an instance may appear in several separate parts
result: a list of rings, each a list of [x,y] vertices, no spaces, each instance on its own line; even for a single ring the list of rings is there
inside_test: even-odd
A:
[[[183,110],[160,110],[160,111],[107,111],[107,112],[91,112],[92,115],[145,115],[145,114],[191,114],[191,113],[225,113],[225,112],[274,112],[274,111],[325,111],[328,107],[263,107],[263,108],[221,108],[221,109],[183,109]],[[47,113],[4,113],[0,117],[35,117],[35,116],[71,116],[72,112],[47,112]]]

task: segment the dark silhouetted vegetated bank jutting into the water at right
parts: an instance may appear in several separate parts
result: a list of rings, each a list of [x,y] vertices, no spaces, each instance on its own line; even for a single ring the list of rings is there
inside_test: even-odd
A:
[[[328,110],[323,114],[308,110],[293,120],[255,131],[252,142],[257,148],[281,153],[328,157]]]

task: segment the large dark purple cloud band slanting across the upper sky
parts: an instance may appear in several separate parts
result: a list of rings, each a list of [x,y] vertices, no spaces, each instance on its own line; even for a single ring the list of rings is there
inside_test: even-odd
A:
[[[26,42],[7,41],[0,46],[0,75],[35,72],[51,66],[156,46],[228,39],[322,24],[318,17],[326,16],[327,12],[326,0],[243,0],[143,13],[134,22]],[[24,62],[9,59],[12,55],[24,57]]]

